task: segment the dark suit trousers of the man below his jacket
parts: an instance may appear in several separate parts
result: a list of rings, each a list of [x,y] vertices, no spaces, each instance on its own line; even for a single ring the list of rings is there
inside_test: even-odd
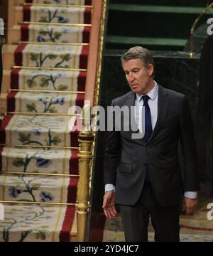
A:
[[[162,206],[155,198],[151,183],[145,182],[134,206],[119,205],[126,242],[148,242],[148,223],[155,230],[156,242],[180,241],[180,204]]]

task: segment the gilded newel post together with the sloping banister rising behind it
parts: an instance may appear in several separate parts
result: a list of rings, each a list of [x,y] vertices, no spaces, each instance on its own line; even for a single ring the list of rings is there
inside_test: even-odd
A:
[[[79,242],[83,242],[85,240],[86,230],[87,230],[87,217],[88,210],[90,208],[89,200],[90,200],[90,182],[92,177],[92,164],[93,164],[93,154],[94,154],[94,138],[96,135],[96,128],[93,127],[93,131],[91,129],[91,122],[94,119],[92,125],[96,124],[97,113],[91,115],[91,107],[97,106],[98,98],[99,98],[99,85],[100,85],[100,77],[102,70],[102,52],[103,52],[103,43],[104,43],[104,29],[105,29],[105,16],[107,9],[107,0],[96,0],[94,3],[101,8],[101,16],[100,16],[100,26],[98,28],[98,51],[97,51],[97,68],[96,68],[96,79],[94,83],[94,93],[90,95],[90,97],[85,97],[85,105],[82,110],[82,124],[83,129],[79,135],[79,143],[80,143],[80,153],[78,154],[79,158],[79,171],[80,171],[80,180],[77,187],[77,239]],[[90,86],[90,85],[89,85]],[[89,91],[91,88],[89,87]],[[92,99],[92,102],[91,102]],[[87,105],[87,100],[91,103],[91,105]]]

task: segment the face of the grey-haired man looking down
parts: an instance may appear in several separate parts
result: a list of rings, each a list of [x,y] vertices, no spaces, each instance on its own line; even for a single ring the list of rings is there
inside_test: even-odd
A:
[[[153,85],[153,65],[149,64],[148,68],[143,64],[141,59],[124,60],[122,63],[126,80],[133,92],[146,94]]]

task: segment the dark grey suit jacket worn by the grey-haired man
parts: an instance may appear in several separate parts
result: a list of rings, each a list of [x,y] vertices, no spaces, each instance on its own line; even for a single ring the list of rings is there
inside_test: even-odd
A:
[[[135,93],[131,91],[113,100],[112,106],[130,108],[134,100]],[[138,201],[146,163],[155,197],[163,206],[180,203],[184,191],[199,189],[195,134],[185,95],[159,86],[158,119],[153,134],[146,143],[143,139],[132,139],[133,133],[133,129],[125,131],[123,125],[120,131],[109,132],[104,183],[116,186],[116,203],[132,206]],[[178,162],[179,139],[185,164],[183,179]]]

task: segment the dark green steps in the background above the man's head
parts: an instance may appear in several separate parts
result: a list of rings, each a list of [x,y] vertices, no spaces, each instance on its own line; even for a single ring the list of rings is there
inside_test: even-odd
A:
[[[128,49],[139,45],[150,50],[182,51],[193,22],[209,2],[111,0],[107,48]],[[212,14],[213,9],[210,9],[200,22],[206,23]]]

